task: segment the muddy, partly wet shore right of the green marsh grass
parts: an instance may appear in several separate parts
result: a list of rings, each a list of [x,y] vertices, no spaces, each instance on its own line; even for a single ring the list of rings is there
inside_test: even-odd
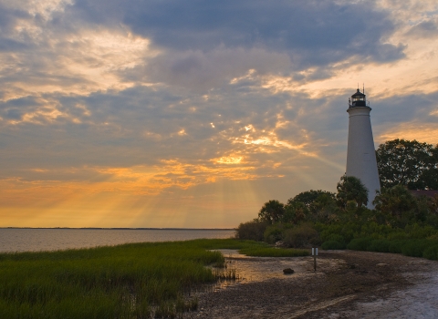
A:
[[[438,262],[379,252],[246,257],[222,251],[239,280],[193,292],[185,318],[437,318]],[[293,274],[285,275],[283,269]],[[226,271],[226,270],[225,270]]]

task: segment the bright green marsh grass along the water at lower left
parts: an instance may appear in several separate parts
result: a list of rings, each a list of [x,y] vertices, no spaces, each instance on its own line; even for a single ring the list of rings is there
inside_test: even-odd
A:
[[[59,252],[0,254],[0,318],[146,318],[195,308],[184,290],[216,277],[214,249],[275,255],[238,240],[130,243]],[[307,254],[297,251],[295,254]]]

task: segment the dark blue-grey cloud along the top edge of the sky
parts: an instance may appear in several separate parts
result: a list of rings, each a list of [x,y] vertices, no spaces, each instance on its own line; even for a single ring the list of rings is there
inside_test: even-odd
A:
[[[151,37],[157,46],[179,51],[195,47],[204,52],[221,45],[259,46],[291,51],[298,54],[297,60],[317,65],[352,54],[373,56],[374,46],[381,46],[381,37],[394,28],[387,14],[363,3],[225,1],[205,5],[198,0],[148,5],[133,2],[129,8],[124,23],[134,32]],[[300,51],[310,57],[299,55]],[[391,55],[384,58],[400,57]]]

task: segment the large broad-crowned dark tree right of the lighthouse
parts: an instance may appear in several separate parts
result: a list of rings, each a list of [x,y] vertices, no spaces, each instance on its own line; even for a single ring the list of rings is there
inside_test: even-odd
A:
[[[438,145],[393,139],[376,151],[381,187],[404,185],[410,190],[438,189]]]

